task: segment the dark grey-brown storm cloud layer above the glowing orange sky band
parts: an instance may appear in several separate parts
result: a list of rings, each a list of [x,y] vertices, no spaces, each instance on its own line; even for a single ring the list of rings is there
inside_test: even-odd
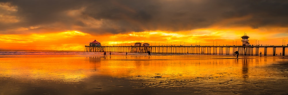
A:
[[[1,23],[1,30],[41,25],[86,33],[124,33],[130,31],[184,31],[206,28],[231,18],[221,26],[287,27],[287,0],[9,0],[18,7],[20,22]],[[94,27],[67,11],[85,8],[79,17],[101,20]],[[63,26],[49,26],[61,23]],[[72,26],[79,26],[74,28]],[[3,33],[3,32],[2,32]]]

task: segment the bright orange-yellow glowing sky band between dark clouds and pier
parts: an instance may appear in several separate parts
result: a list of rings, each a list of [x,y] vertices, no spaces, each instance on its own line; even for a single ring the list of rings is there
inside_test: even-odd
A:
[[[288,28],[268,29],[266,31],[287,31]],[[235,28],[231,29],[194,29],[190,31],[143,31],[110,35],[94,36],[82,31],[63,31],[57,33],[42,33],[28,35],[0,35],[0,43],[5,44],[0,49],[22,50],[72,50],[82,51],[85,45],[93,40],[99,41],[102,46],[130,46],[134,43],[149,43],[154,45],[241,45],[241,36],[244,32],[250,37],[251,44],[257,41],[260,44],[282,45],[282,39],[288,37],[270,37],[273,32],[265,32],[259,36],[258,31],[263,29]],[[256,33],[255,33],[256,32]],[[259,41],[260,40],[260,41]],[[288,41],[288,40],[287,40]],[[169,44],[168,44],[169,43]],[[288,43],[288,42],[287,42]],[[18,47],[16,47],[16,45]],[[19,47],[20,46],[20,47]]]

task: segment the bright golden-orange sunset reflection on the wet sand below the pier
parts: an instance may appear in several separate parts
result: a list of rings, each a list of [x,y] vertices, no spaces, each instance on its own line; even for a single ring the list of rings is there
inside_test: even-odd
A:
[[[259,68],[275,63],[274,56],[90,56],[0,58],[1,78],[78,82],[93,75],[131,79],[192,79],[229,76],[229,79],[261,78]],[[255,77],[257,76],[257,77]]]

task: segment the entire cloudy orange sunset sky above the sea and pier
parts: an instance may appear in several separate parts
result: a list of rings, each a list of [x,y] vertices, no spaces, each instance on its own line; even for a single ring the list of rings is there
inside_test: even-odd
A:
[[[0,50],[288,44],[287,0],[1,0]],[[287,41],[287,42],[286,42]],[[200,43],[199,43],[200,42]]]

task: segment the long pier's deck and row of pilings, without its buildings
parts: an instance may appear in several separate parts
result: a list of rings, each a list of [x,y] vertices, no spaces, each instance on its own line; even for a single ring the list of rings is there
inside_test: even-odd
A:
[[[235,51],[239,55],[258,56],[259,48],[264,48],[264,56],[267,56],[267,49],[273,48],[273,56],[276,55],[276,47],[283,48],[282,55],[285,56],[285,47],[288,46],[85,46],[86,52],[139,52],[146,53],[164,53],[164,54],[207,54],[207,55],[226,55],[234,54]],[[230,52],[232,48],[232,53]],[[255,49],[254,49],[255,48]],[[255,52],[253,52],[255,50]],[[255,53],[255,54],[254,54]]]

